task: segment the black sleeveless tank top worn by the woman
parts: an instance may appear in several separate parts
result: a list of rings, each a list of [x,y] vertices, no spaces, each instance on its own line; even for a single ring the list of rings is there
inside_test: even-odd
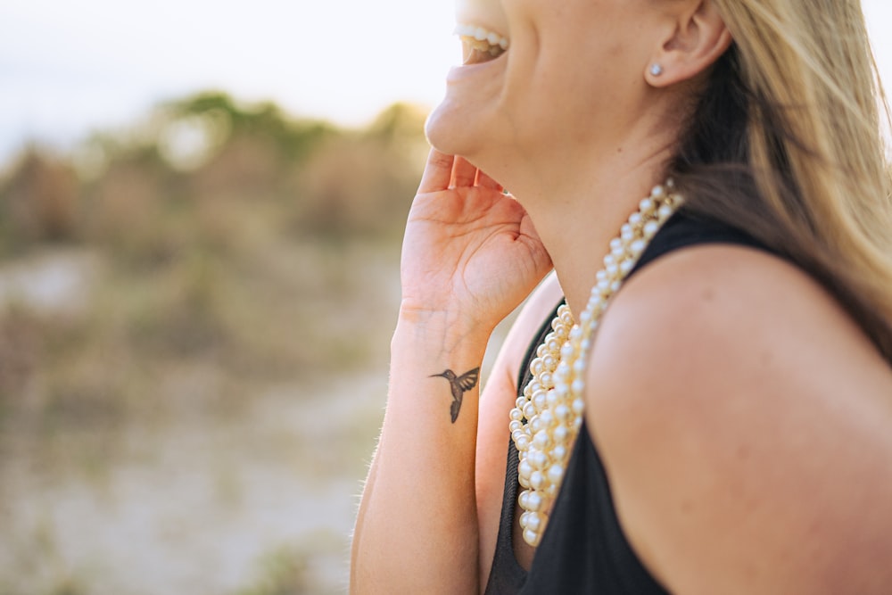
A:
[[[654,236],[631,275],[673,250],[696,244],[738,244],[765,250],[733,227],[695,219],[683,211]],[[559,306],[560,304],[558,304]],[[557,312],[557,307],[555,308]],[[530,344],[518,374],[518,393],[530,381],[530,361],[551,328],[554,312]],[[506,421],[506,426],[508,422]],[[512,546],[517,500],[518,456],[508,438],[508,469],[499,537],[486,595],[598,593],[598,595],[665,595],[626,540],[607,482],[607,473],[584,422],[567,464],[566,476],[549,525],[527,573]]]

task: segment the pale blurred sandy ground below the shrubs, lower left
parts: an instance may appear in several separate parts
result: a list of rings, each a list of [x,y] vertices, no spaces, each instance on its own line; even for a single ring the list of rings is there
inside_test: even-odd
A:
[[[102,438],[7,432],[0,592],[344,592],[384,382],[285,386]]]

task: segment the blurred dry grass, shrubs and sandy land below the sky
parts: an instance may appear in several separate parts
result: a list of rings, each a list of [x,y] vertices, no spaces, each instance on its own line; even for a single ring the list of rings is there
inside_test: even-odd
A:
[[[184,119],[203,153],[178,153]],[[343,130],[211,94],[150,121],[0,180],[0,592],[338,592],[422,119]],[[253,574],[163,578],[220,559]]]

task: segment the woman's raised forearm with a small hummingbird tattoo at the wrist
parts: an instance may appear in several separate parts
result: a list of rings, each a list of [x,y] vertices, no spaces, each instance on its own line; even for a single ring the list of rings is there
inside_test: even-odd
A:
[[[403,312],[393,335],[384,426],[353,538],[353,592],[479,591],[479,383],[465,376],[458,401],[451,387],[479,368],[489,330],[456,326]],[[457,377],[434,376],[445,370]]]

